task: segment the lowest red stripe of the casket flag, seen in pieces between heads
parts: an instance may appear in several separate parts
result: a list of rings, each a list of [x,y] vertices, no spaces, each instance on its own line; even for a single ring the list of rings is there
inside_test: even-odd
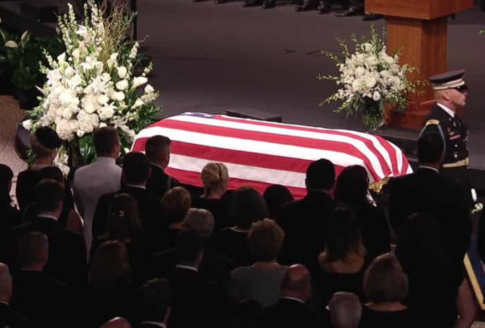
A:
[[[186,185],[195,185],[196,187],[202,188],[202,183],[200,182],[200,173],[198,172],[177,170],[171,167],[167,167],[166,172],[168,175],[173,176],[175,179],[177,179],[180,183],[184,183]],[[231,172],[229,172],[229,175],[230,173]],[[229,178],[229,190],[243,187],[243,185],[249,185],[258,190],[258,192],[260,192],[261,194],[263,194],[266,188],[268,188],[272,184],[260,181]],[[295,199],[301,199],[306,195],[305,188],[288,187],[288,189],[292,192]]]

